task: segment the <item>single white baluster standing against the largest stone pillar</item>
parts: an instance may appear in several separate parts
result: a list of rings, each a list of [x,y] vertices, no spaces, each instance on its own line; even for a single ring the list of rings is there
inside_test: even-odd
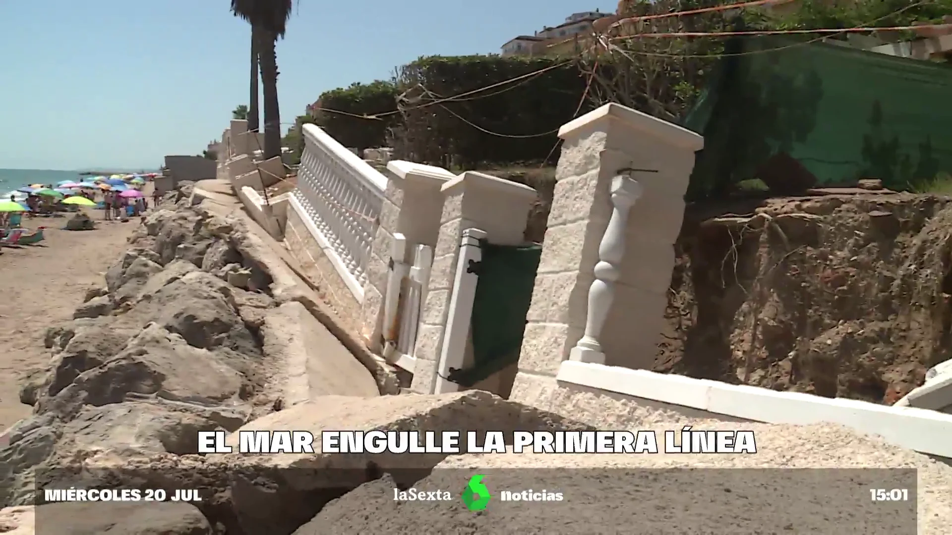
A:
[[[628,212],[642,196],[642,187],[630,177],[619,175],[611,179],[611,218],[598,248],[598,264],[595,265],[595,281],[588,288],[588,310],[585,318],[585,334],[569,352],[573,361],[605,364],[605,352],[599,343],[602,327],[608,310],[615,298],[615,281],[621,275],[619,265],[625,256],[625,228]]]

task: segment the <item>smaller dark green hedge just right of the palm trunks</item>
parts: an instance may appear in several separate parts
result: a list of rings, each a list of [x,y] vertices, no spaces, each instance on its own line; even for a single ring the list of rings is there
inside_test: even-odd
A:
[[[397,107],[397,89],[390,82],[378,80],[372,84],[351,84],[348,88],[331,89],[320,96],[314,124],[325,129],[345,147],[372,149],[387,146],[387,132],[400,117],[391,113],[379,120],[353,117],[393,111]]]

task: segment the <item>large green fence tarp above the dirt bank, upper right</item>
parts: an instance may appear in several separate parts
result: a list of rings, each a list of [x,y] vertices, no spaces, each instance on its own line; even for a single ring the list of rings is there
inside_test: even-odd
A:
[[[778,37],[725,49],[744,55],[721,60],[683,121],[704,135],[688,198],[755,178],[779,152],[821,187],[907,189],[952,171],[952,67]]]

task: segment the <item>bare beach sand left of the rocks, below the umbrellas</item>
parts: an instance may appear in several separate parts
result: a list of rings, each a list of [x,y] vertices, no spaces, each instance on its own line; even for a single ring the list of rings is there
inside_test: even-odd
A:
[[[49,227],[46,240],[0,248],[0,431],[32,410],[20,403],[18,381],[30,368],[49,364],[46,327],[71,318],[86,291],[105,284],[104,273],[139,226],[138,218],[119,223],[102,221],[101,210],[87,213],[95,230],[61,230],[65,217],[25,219],[24,227]]]

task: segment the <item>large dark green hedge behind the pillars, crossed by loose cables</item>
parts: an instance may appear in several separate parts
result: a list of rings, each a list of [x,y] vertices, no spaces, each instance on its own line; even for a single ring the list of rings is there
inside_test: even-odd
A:
[[[437,102],[559,63],[565,59],[470,55],[421,57],[404,66],[396,81],[404,96],[403,124],[396,129],[397,157],[446,168],[544,159],[558,141],[555,130],[572,119],[585,91],[585,77],[571,63]],[[550,133],[520,137],[542,132]],[[555,152],[552,158],[557,157]]]

